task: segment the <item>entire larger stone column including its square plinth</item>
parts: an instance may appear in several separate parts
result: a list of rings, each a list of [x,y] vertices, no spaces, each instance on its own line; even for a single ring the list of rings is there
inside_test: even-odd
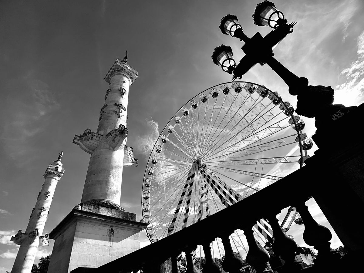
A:
[[[116,59],[104,80],[109,84],[96,132],[86,129],[73,143],[91,154],[81,203],[50,233],[55,240],[50,273],[98,267],[139,249],[146,224],[120,206],[123,167],[138,166],[126,146],[129,87],[138,71]]]

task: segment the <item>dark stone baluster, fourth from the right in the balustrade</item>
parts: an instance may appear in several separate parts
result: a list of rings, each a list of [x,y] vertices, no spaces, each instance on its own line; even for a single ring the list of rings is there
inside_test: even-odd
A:
[[[241,257],[233,252],[229,236],[230,233],[224,234],[220,237],[225,249],[225,258],[222,262],[222,268],[229,273],[240,273],[240,269],[243,267],[244,261]]]

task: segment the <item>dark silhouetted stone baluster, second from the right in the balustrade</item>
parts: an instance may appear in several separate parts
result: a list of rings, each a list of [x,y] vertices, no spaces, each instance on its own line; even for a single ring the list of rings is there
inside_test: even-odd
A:
[[[282,269],[285,272],[292,272],[293,270],[298,271],[302,269],[304,267],[304,263],[295,259],[296,251],[298,249],[296,242],[284,234],[278,224],[276,215],[268,217],[268,221],[273,230],[273,251],[284,260],[284,266]]]

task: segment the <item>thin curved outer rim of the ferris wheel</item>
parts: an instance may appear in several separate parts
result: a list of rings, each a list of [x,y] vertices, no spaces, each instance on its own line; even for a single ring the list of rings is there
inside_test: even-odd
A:
[[[182,105],[182,107],[181,107],[181,108],[179,108],[179,109],[175,112],[175,114],[174,114],[174,115],[172,115],[172,118],[171,118],[170,120],[168,120],[168,122],[166,123],[166,125],[165,125],[165,126],[163,127],[163,129],[161,130],[160,134],[158,135],[158,137],[157,137],[157,139],[156,139],[156,141],[155,141],[155,143],[154,143],[154,145],[153,145],[153,149],[152,149],[152,150],[151,150],[151,152],[150,152],[150,155],[149,155],[149,158],[148,158],[148,161],[147,161],[147,164],[146,164],[146,168],[145,168],[144,178],[145,178],[145,175],[146,175],[146,172],[147,172],[147,167],[149,167],[149,166],[148,166],[148,165],[149,165],[149,161],[150,161],[151,157],[153,156],[152,154],[153,154],[153,152],[154,152],[154,148],[155,148],[155,146],[157,145],[157,143],[158,143],[158,141],[159,141],[159,138],[161,138],[161,136],[162,136],[163,132],[166,130],[167,126],[168,126],[168,125],[170,125],[170,123],[171,123],[171,122],[173,122],[174,117],[175,117],[176,115],[178,115],[178,113],[182,110],[182,108],[186,107],[186,105],[187,105],[189,102],[191,102],[191,100],[194,100],[195,98],[198,98],[198,96],[199,96],[199,95],[201,95],[202,93],[204,93],[204,92],[206,92],[206,91],[211,90],[212,88],[215,88],[215,87],[217,87],[217,86],[222,86],[222,85],[224,85],[224,84],[233,84],[233,83],[240,83],[242,86],[244,86],[244,84],[246,84],[246,83],[248,83],[248,84],[253,84],[254,86],[260,86],[260,87],[265,88],[265,90],[267,90],[267,91],[269,92],[269,94],[274,94],[272,90],[270,90],[269,88],[265,87],[264,85],[257,84],[257,83],[253,83],[253,82],[247,82],[247,81],[229,81],[229,82],[219,83],[219,84],[216,84],[216,85],[214,85],[214,86],[211,86],[211,87],[206,88],[205,90],[203,90],[203,91],[199,92],[198,94],[196,94],[195,96],[193,96],[192,98],[190,98],[189,100],[187,100],[187,101],[186,101],[186,102]],[[226,96],[226,95],[227,95],[227,94],[225,94],[225,96]],[[267,95],[267,96],[268,96],[268,95]],[[280,103],[283,103],[283,105],[285,106],[286,110],[288,110],[288,106],[286,106],[286,104],[284,103],[284,101],[283,101],[283,99],[281,98],[281,96],[276,96],[276,98],[278,98],[278,100],[280,101]],[[206,110],[205,110],[205,111],[206,111]],[[297,127],[297,121],[294,119],[293,112],[290,112],[290,111],[289,111],[289,116],[292,118],[294,125]],[[298,128],[298,127],[297,127],[297,128]],[[302,160],[302,158],[303,158],[303,153],[305,153],[305,155],[307,155],[307,153],[306,153],[306,150],[303,150],[303,149],[302,149],[302,143],[301,143],[302,141],[301,141],[301,136],[300,136],[300,134],[302,134],[302,131],[301,131],[301,130],[295,130],[295,131],[296,131],[297,137],[298,137],[298,139],[299,139],[298,144],[299,144],[299,149],[300,149],[300,168],[301,168],[301,167],[302,167],[302,165],[303,165],[303,160]],[[205,135],[205,137],[206,137],[206,135]],[[186,163],[186,165],[187,165],[187,163]],[[187,169],[188,169],[188,168],[187,168]],[[185,173],[185,171],[184,171],[184,173]],[[144,180],[143,180],[143,182],[142,182],[142,191],[143,191],[143,189],[145,189],[145,188],[144,188]],[[141,203],[143,203],[143,195],[141,196]],[[142,210],[141,210],[141,212],[142,212],[142,218],[144,219],[143,206],[142,206]],[[148,237],[148,238],[149,238],[149,237]],[[153,243],[153,242],[151,241],[151,238],[149,238],[149,241],[150,241],[151,243]]]

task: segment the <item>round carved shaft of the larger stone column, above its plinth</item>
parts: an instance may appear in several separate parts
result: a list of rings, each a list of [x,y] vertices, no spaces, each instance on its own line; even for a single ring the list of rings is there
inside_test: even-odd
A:
[[[120,207],[124,147],[127,142],[127,107],[129,87],[138,74],[120,59],[111,67],[105,81],[109,88],[100,110],[96,132],[86,129],[74,143],[91,154],[81,202]]]

